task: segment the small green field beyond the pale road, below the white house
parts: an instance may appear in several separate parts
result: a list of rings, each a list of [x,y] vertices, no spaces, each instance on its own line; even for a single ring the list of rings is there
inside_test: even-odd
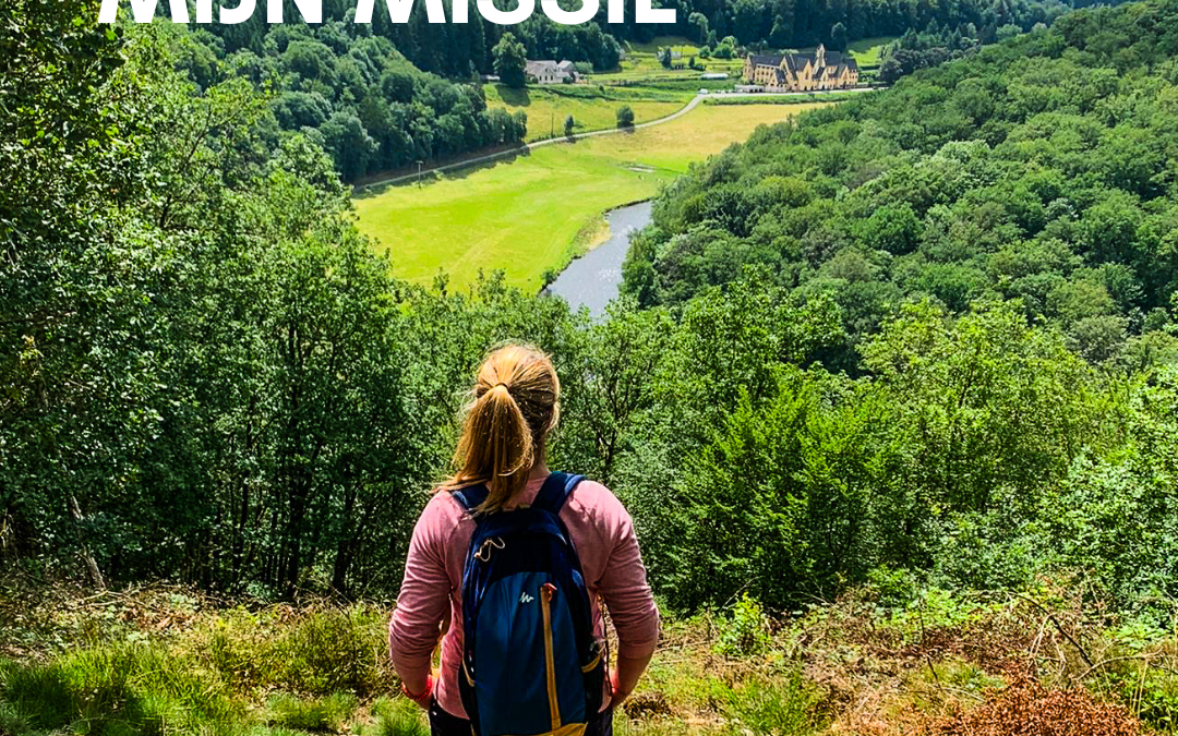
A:
[[[597,85],[529,86],[511,89],[504,85],[487,85],[489,107],[518,110],[528,114],[529,142],[564,134],[564,119],[573,115],[574,131],[600,131],[617,125],[617,108],[629,105],[636,122],[664,118],[691,99],[687,91],[626,87],[598,88]]]

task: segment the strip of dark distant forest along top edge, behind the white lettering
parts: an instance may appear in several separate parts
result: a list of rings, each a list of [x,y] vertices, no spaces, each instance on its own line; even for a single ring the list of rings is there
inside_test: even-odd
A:
[[[290,0],[284,18],[298,19]],[[503,7],[511,4],[498,1]],[[580,2],[561,0],[562,7],[575,9]],[[383,4],[377,2],[371,25],[353,28],[355,2],[329,0],[324,20],[346,21],[343,28],[356,35],[386,38],[416,66],[426,72],[451,78],[469,78],[474,73],[492,72],[492,48],[507,32],[516,35],[536,59],[585,61],[597,71],[611,69],[622,53],[622,41],[646,42],[656,37],[687,37],[700,45],[715,47],[733,37],[752,48],[801,48],[830,44],[835,25],[849,40],[882,35],[901,35],[907,31],[924,32],[953,28],[984,44],[998,40],[998,29],[1014,26],[1030,31],[1034,24],[1051,24],[1073,7],[1086,5],[1076,0],[959,0],[924,2],[921,0],[679,0],[654,2],[655,7],[675,8],[675,24],[637,24],[634,7],[626,6],[623,22],[607,21],[607,4],[601,4],[597,18],[580,26],[562,26],[540,12],[510,28],[497,26],[471,13],[465,24],[430,24],[422,2],[413,6],[408,24],[389,20]],[[287,22],[289,25],[289,22]],[[972,26],[972,33],[967,28]],[[207,27],[221,40],[226,53],[247,49],[257,55],[269,51],[272,29],[258,13],[246,22]],[[337,32],[338,34],[339,32]]]

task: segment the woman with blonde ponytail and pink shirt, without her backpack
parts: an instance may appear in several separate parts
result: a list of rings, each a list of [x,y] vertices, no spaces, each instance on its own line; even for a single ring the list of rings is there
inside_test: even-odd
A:
[[[478,371],[455,452],[458,471],[425,506],[409,544],[405,577],[389,624],[389,654],[406,696],[430,714],[435,736],[470,736],[458,694],[463,657],[462,573],[475,522],[450,491],[488,489],[477,513],[528,505],[548,477],[545,445],[558,418],[560,382],[548,356],[521,345],[492,352]],[[629,515],[605,486],[583,480],[560,519],[576,548],[591,601],[595,635],[604,637],[598,598],[617,631],[616,664],[601,711],[585,734],[613,734],[613,709],[634,690],[659,639],[659,611]],[[430,659],[442,638],[437,682]]]

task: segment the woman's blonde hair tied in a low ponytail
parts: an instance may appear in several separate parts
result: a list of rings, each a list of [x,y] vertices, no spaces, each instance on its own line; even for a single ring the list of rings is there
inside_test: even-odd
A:
[[[529,345],[505,345],[489,354],[465,407],[454,453],[457,471],[439,490],[484,484],[477,512],[502,509],[544,459],[544,443],[560,417],[561,383],[552,362]]]

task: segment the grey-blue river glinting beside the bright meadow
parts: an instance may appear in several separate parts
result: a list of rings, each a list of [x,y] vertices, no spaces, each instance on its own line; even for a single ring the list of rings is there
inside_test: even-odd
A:
[[[650,223],[650,206],[649,201],[640,201],[607,212],[609,240],[575,258],[544,292],[562,297],[574,311],[587,306],[594,319],[604,317],[605,305],[622,285],[622,261],[630,250],[630,234]]]

